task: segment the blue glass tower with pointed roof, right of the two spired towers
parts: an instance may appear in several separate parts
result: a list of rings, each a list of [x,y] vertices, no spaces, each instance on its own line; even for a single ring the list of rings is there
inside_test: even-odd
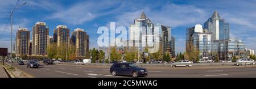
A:
[[[208,32],[212,33],[212,40],[229,39],[229,23],[225,23],[225,19],[220,17],[217,10],[215,10],[212,17],[204,23],[204,28],[207,28]]]

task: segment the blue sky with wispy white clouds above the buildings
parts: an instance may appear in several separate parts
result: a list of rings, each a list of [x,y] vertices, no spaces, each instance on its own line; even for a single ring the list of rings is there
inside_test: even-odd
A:
[[[0,0],[0,48],[10,49],[10,24],[4,31],[11,9],[18,0]],[[256,1],[254,0],[20,0],[27,2],[14,11],[13,38],[19,27],[28,28],[36,22],[46,22],[49,36],[62,24],[71,29],[82,28],[90,36],[90,48],[97,48],[98,27],[123,26],[128,29],[134,19],[144,11],[153,23],[171,27],[176,41],[176,53],[185,51],[185,30],[202,24],[217,10],[221,18],[230,24],[230,37],[241,39],[246,48],[256,50]],[[110,29],[110,28],[109,28]],[[14,41],[15,39],[13,39]],[[10,51],[10,50],[9,50]]]

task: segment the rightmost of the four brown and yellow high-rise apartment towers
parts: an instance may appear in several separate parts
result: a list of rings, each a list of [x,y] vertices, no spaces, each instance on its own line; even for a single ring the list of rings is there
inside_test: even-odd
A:
[[[89,52],[89,35],[86,34],[84,29],[76,28],[72,32],[71,40],[76,48],[76,57],[85,57],[86,52]]]

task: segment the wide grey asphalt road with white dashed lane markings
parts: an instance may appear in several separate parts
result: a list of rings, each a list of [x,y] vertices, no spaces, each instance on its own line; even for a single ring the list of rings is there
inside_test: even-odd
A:
[[[13,66],[33,77],[39,78],[122,78],[129,76],[112,76],[109,67],[77,65],[41,65],[39,68],[28,68],[26,65]],[[144,78],[208,78],[208,77],[255,77],[256,66],[233,67],[151,67],[147,68],[148,76]]]

